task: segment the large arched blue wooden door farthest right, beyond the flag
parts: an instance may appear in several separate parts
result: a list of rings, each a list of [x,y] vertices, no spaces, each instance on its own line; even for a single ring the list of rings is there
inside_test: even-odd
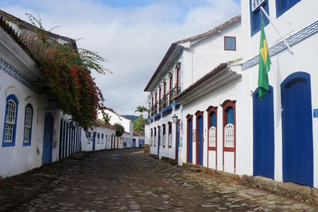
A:
[[[281,84],[283,182],[313,187],[310,74],[296,72]]]

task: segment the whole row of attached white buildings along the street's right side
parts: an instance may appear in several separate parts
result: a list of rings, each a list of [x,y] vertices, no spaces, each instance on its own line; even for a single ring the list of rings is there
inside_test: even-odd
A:
[[[242,0],[242,18],[173,43],[145,88],[151,153],[318,187],[317,6]],[[260,101],[261,7],[271,71],[270,93]]]

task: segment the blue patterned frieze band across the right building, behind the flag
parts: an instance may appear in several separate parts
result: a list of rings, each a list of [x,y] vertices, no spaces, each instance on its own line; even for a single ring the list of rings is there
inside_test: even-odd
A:
[[[294,35],[291,35],[290,37],[286,38],[286,42],[288,45],[293,46],[297,44],[298,42],[301,42],[302,40],[307,39],[308,37],[316,34],[318,32],[318,20],[311,25],[308,25],[307,27],[303,28],[302,30],[298,31]],[[283,50],[287,49],[285,43],[283,41],[279,42],[277,45],[274,45],[273,47],[269,48],[269,56],[273,57],[274,55],[278,54],[279,52],[282,52]],[[242,64],[242,71],[249,69],[252,66],[255,66],[259,64],[259,54],[257,56],[253,57],[252,59],[249,59],[244,64]]]

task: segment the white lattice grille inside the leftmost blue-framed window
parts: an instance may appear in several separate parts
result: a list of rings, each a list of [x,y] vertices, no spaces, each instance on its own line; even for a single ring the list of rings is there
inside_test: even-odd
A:
[[[6,103],[6,129],[4,142],[13,142],[13,129],[16,124],[16,102],[8,100]]]

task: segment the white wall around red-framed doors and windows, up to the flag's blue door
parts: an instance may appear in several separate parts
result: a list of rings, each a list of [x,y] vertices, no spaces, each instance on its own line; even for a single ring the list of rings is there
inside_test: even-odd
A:
[[[232,66],[233,71],[242,73],[240,66]],[[220,106],[225,100],[237,100],[236,108],[236,173],[239,175],[252,175],[252,96],[249,90],[249,75],[242,73],[242,80],[237,81],[225,88],[221,88],[214,93],[196,100],[189,105],[184,105],[184,116],[187,114],[194,115],[198,110],[204,111],[204,157],[203,165],[207,166],[207,149],[208,149],[208,114],[206,109],[209,106],[218,107],[217,114],[217,151],[218,151],[218,170],[223,170],[223,108]],[[184,119],[187,123],[187,120]],[[193,129],[196,129],[196,117],[193,117]],[[187,160],[187,131],[184,131],[184,160]],[[192,163],[196,163],[196,143],[192,143]],[[212,151],[210,151],[211,153]],[[213,157],[213,158],[211,158]],[[215,156],[209,154],[209,167],[215,166]],[[213,161],[213,163],[211,163]],[[225,167],[233,166],[234,160],[225,158]],[[234,172],[234,170],[233,170]]]

